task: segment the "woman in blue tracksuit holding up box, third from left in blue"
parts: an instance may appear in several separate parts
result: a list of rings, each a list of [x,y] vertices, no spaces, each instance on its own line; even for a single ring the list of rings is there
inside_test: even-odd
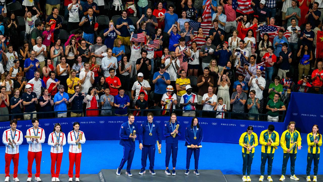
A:
[[[178,151],[178,137],[181,136],[181,132],[180,132],[181,125],[179,124],[176,118],[177,118],[176,114],[172,113],[171,119],[164,126],[164,136],[166,137],[166,159],[165,159],[166,175],[171,175],[168,169],[171,154],[172,154],[172,164],[173,164],[172,175],[176,175],[175,167],[176,167],[176,158],[177,158],[177,151]],[[179,125],[179,128],[178,130],[175,130],[177,125]],[[173,137],[174,133],[176,133],[175,138]]]

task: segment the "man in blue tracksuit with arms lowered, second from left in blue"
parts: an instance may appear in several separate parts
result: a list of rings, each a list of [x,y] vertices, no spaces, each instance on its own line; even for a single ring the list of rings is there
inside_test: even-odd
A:
[[[153,121],[154,115],[150,112],[147,114],[147,121],[143,122],[139,127],[139,148],[141,151],[141,171],[140,175],[146,172],[147,155],[149,157],[149,172],[155,175],[154,162],[155,162],[155,151],[156,141],[159,142],[161,147],[161,128],[159,124]]]

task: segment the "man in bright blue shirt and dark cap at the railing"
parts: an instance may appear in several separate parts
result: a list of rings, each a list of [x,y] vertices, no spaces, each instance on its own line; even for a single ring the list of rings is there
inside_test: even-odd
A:
[[[54,111],[66,111],[69,97],[68,97],[68,94],[64,92],[65,86],[59,85],[58,90],[59,92],[57,92],[54,96],[54,104],[55,104]],[[57,112],[57,117],[66,118],[67,112]]]

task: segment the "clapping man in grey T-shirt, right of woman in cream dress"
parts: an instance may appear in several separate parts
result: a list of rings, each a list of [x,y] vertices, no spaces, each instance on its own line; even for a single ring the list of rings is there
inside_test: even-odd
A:
[[[239,113],[245,112],[245,102],[247,101],[247,94],[242,92],[242,86],[239,84],[235,87],[236,92],[231,96],[230,104],[233,105],[231,118],[244,119],[244,115]],[[233,115],[233,116],[232,116]]]

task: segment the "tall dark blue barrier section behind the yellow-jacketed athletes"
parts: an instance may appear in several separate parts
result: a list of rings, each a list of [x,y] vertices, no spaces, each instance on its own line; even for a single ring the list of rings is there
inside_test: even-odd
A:
[[[292,92],[285,117],[285,127],[295,121],[302,133],[310,133],[317,124],[323,130],[323,95]]]

